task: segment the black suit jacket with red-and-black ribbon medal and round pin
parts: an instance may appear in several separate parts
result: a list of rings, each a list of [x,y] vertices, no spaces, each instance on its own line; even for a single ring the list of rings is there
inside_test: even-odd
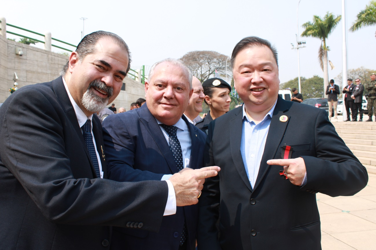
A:
[[[282,115],[287,121],[280,121]],[[199,199],[197,241],[200,249],[321,249],[315,193],[353,195],[368,181],[367,171],[346,147],[326,112],[278,97],[264,154],[252,188],[240,144],[243,107],[209,125],[208,164],[220,166],[207,179]],[[230,129],[229,129],[230,128]],[[307,183],[295,186],[279,175],[282,147],[302,157]],[[219,231],[216,223],[219,217]]]

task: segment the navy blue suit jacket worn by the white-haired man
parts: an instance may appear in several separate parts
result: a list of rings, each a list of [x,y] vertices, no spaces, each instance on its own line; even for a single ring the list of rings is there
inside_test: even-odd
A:
[[[189,123],[191,138],[190,168],[204,166],[206,135]],[[103,138],[108,159],[108,175],[116,181],[161,180],[164,174],[178,172],[173,154],[160,125],[147,105],[110,115],[103,121]],[[184,220],[188,229],[187,249],[196,245],[197,205],[177,207],[176,214],[164,216],[158,233],[127,228],[114,229],[112,249],[179,249]],[[117,237],[115,237],[117,235]]]

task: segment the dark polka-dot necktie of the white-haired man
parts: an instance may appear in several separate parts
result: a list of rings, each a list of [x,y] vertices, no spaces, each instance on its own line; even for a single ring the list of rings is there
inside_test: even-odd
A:
[[[168,144],[170,144],[170,150],[172,151],[172,154],[174,156],[177,170],[182,170],[183,169],[183,154],[182,154],[182,147],[180,146],[180,142],[177,139],[177,127],[175,126],[169,126],[165,124],[160,124],[164,130],[168,133]],[[183,231],[180,236],[180,246],[183,246],[185,240],[187,237],[186,233],[186,226],[185,226],[185,220],[184,220],[184,225],[183,225]]]

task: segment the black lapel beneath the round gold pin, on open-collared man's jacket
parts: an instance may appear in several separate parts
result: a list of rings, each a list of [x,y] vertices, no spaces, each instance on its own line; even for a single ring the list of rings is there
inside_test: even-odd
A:
[[[291,105],[292,103],[290,104],[289,102],[278,97],[276,107],[274,108],[273,116],[271,117],[268,136],[265,142],[264,154],[262,155],[259,172],[253,190],[257,188],[257,186],[265,177],[265,174],[267,173],[270,167],[266,163],[267,160],[274,159],[274,157],[276,156],[276,153],[279,149],[279,144],[282,141],[283,136],[285,135],[286,127],[290,122],[291,118],[289,114],[285,114],[285,111],[287,111]],[[282,115],[287,116],[287,121],[282,122],[279,120],[279,118]],[[276,174],[278,174],[277,170],[275,172]]]

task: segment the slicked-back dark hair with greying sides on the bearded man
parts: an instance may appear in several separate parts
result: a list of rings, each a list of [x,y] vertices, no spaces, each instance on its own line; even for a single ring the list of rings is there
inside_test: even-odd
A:
[[[84,36],[76,48],[78,60],[81,62],[83,58],[86,57],[86,55],[95,53],[95,46],[98,40],[104,37],[112,38],[114,42],[116,42],[120,47],[123,47],[125,49],[125,51],[128,54],[128,67],[126,71],[126,73],[128,73],[130,69],[130,62],[132,61],[132,57],[130,56],[129,52],[129,47],[120,36],[111,32],[99,30]],[[67,64],[64,65],[60,75],[64,76],[65,73],[67,73],[68,65],[69,61],[67,62]]]

